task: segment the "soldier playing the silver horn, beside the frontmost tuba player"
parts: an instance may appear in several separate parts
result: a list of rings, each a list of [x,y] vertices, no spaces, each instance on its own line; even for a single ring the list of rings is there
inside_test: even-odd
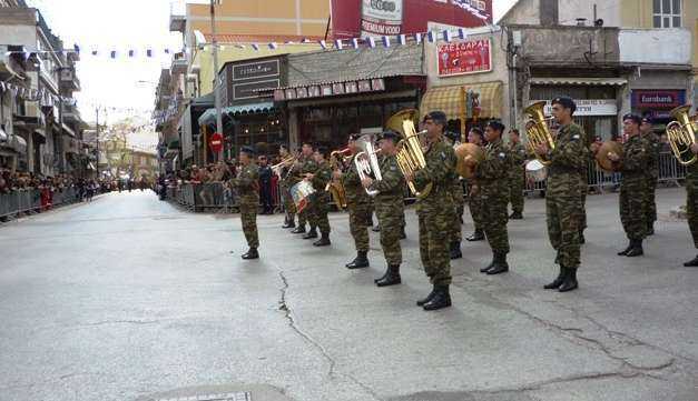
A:
[[[362,184],[372,191],[379,191],[374,198],[375,211],[381,224],[381,247],[385,255],[387,269],[382,278],[376,279],[379,287],[400,284],[400,264],[402,263],[402,248],[400,237],[402,229],[403,213],[403,191],[405,179],[397,167],[395,144],[400,136],[393,131],[385,131],[380,137],[381,151],[381,180],[373,181],[365,178]]]

